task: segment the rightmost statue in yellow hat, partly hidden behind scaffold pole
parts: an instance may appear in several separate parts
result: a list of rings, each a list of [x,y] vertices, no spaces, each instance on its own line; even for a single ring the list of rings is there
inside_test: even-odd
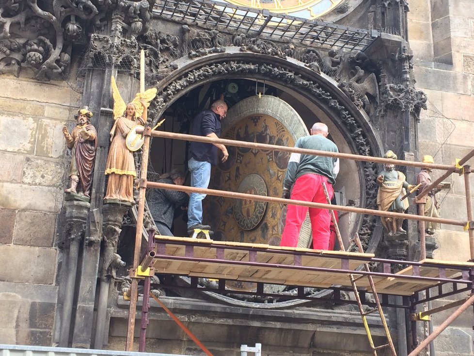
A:
[[[434,163],[433,157],[429,155],[423,156],[423,163]],[[425,188],[427,188],[431,184],[431,176],[429,175],[432,172],[432,169],[428,167],[424,167],[421,169],[421,172],[418,173],[418,177],[416,178],[416,184],[420,184],[420,188],[418,192],[423,192]],[[440,185],[437,188],[432,189],[428,192],[426,196],[427,202],[425,204],[425,216],[430,216],[433,218],[439,218],[440,214],[438,210],[440,209],[439,203],[436,199],[436,193],[438,193],[439,189],[443,187]],[[440,228],[439,223],[431,223],[429,221],[425,222],[425,232],[428,235],[433,235],[436,229]]]

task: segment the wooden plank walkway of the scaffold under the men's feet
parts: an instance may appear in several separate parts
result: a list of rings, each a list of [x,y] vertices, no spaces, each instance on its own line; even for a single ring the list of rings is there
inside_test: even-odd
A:
[[[348,272],[357,271],[363,263],[375,258],[374,254],[324,251],[306,248],[269,246],[259,243],[221,242],[187,237],[156,236],[157,257],[153,267],[156,273],[207,277],[215,279],[263,282],[304,287],[351,287]],[[178,259],[176,259],[176,257]],[[194,260],[193,260],[194,259]],[[453,262],[427,259],[427,265],[411,265],[390,276],[373,275],[379,293],[411,295],[439,284],[433,280],[414,280],[397,277],[414,275],[433,278],[454,278],[461,270],[474,266],[472,262]],[[259,264],[256,265],[255,263]],[[438,266],[439,265],[439,266]],[[327,269],[315,271],[304,267]],[[468,280],[468,275],[463,276]],[[359,288],[368,288],[367,278],[356,282]]]

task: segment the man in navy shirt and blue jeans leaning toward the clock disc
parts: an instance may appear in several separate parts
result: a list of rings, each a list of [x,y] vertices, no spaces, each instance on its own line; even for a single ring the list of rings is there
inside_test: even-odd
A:
[[[221,120],[227,114],[227,104],[223,100],[217,100],[210,110],[198,113],[194,118],[191,134],[219,138],[221,136]],[[227,161],[229,153],[227,148],[221,144],[207,144],[202,142],[191,142],[190,160],[188,168],[191,172],[191,187],[207,188],[211,178],[211,166],[218,162],[218,154],[222,151],[222,162]],[[203,225],[203,199],[206,194],[191,193],[188,207],[188,233],[192,234],[194,229],[210,229]]]

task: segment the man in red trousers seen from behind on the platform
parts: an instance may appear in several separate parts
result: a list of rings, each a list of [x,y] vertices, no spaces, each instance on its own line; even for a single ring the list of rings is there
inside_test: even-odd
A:
[[[311,129],[311,135],[298,139],[295,147],[338,152],[337,146],[326,138],[328,134],[328,127],[321,122],[316,122]],[[283,181],[283,197],[290,198],[290,189],[293,186],[291,199],[326,203],[322,183],[326,184],[331,199],[334,194],[332,185],[335,183],[337,173],[339,173],[339,159],[337,158],[292,153]],[[288,204],[280,246],[297,246],[301,225],[307,212],[308,207]],[[309,208],[309,216],[313,234],[313,248],[328,250],[331,212],[326,209]]]

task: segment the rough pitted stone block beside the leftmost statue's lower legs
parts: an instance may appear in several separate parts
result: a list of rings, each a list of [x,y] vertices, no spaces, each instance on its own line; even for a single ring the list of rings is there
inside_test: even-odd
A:
[[[50,187],[63,187],[64,164],[36,157],[27,157],[22,182]]]

